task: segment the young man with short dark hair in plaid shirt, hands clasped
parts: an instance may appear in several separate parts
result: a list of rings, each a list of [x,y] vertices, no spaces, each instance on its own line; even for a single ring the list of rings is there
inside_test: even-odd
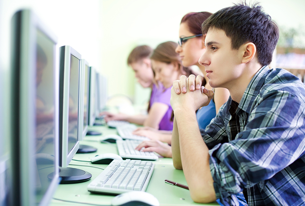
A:
[[[194,75],[173,83],[172,153],[195,202],[238,205],[305,202],[305,86],[283,69],[269,69],[278,27],[262,8],[224,8],[203,23],[206,51],[199,59],[210,85],[230,98],[204,130],[195,111],[213,91]]]

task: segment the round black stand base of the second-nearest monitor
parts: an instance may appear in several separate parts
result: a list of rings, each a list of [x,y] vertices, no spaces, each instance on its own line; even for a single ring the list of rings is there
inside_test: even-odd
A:
[[[53,176],[54,172],[48,175],[48,179],[52,179]],[[60,184],[74,184],[86,182],[92,175],[89,172],[77,168],[59,167],[59,177],[61,178]]]

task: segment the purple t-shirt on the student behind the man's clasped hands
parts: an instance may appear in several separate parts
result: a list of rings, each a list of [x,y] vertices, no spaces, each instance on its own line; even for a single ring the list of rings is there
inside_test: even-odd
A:
[[[149,100],[150,107],[153,103],[159,102],[166,104],[168,106],[167,112],[164,114],[162,120],[159,124],[160,130],[173,130],[173,122],[170,120],[172,115],[172,108],[170,106],[170,88],[164,88],[161,83],[158,84],[158,87],[156,85],[152,86],[152,94]]]

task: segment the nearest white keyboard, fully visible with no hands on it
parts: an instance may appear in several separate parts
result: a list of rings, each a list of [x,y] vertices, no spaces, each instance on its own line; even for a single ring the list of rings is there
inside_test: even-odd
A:
[[[94,193],[145,191],[155,164],[141,160],[113,160],[87,187]]]

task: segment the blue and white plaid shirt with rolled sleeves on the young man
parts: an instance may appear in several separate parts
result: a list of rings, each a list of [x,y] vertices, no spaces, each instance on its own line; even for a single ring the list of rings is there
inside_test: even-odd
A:
[[[262,67],[236,109],[239,133],[231,140],[231,97],[204,130],[216,197],[238,205],[304,205],[305,85],[283,69]]]

